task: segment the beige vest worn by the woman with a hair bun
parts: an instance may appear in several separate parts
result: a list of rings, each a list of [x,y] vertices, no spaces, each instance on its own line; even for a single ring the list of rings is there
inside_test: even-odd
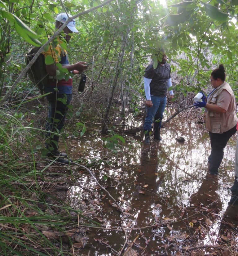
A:
[[[210,110],[206,110],[206,119],[205,124],[206,128],[209,130],[209,132],[213,133],[223,133],[231,128],[233,128],[237,123],[237,117],[236,117],[236,101],[234,93],[232,92],[232,89],[230,85],[226,82],[218,86],[214,92],[212,92],[208,99],[207,103],[209,104],[216,104],[218,96],[222,93],[222,90],[227,90],[231,94],[231,102],[229,104],[229,107],[227,109],[226,113],[215,113]]]

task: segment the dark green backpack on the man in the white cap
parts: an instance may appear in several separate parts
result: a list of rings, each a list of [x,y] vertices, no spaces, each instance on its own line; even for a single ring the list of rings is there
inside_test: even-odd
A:
[[[26,56],[26,65],[33,59],[40,47],[33,47]],[[41,53],[33,65],[27,71],[30,80],[39,88],[41,94],[44,94],[44,88],[48,83],[48,73],[46,71],[45,56]]]

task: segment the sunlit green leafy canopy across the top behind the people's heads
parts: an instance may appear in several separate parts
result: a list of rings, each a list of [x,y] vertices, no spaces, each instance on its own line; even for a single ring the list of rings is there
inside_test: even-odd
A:
[[[6,68],[6,61],[19,56],[18,65],[24,64],[20,56],[27,52],[29,44],[39,45],[53,34],[57,14],[66,10],[75,15],[101,3],[71,0],[64,1],[62,6],[60,1],[1,0],[1,92],[13,82],[11,72],[16,69],[13,63]],[[72,62],[90,62],[94,56],[93,79],[99,83],[117,80],[121,73],[115,89],[129,92],[126,101],[135,97],[134,91],[143,97],[140,82],[148,64],[147,56],[156,60],[161,47],[180,77],[176,89],[184,94],[207,88],[210,70],[219,63],[225,65],[227,80],[235,87],[237,1],[167,3],[164,6],[153,0],[117,0],[79,16],[76,20],[79,34],[73,35],[70,43]]]

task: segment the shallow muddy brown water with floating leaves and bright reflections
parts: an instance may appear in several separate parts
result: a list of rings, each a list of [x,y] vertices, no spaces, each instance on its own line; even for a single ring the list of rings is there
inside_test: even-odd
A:
[[[136,239],[128,255],[190,255],[184,248],[236,240],[238,207],[228,206],[227,190],[234,181],[236,135],[224,150],[218,178],[206,175],[210,143],[204,125],[173,119],[161,136],[148,149],[139,136],[124,135],[124,152],[108,158],[99,132],[89,130],[80,141],[67,139],[71,158],[104,158],[92,171],[125,211],[123,217],[88,173],[73,171],[80,185],[70,188],[70,204],[81,210],[87,206],[86,216],[108,228],[89,228],[78,255],[116,255],[125,232],[126,248]],[[177,142],[177,136],[185,142]]]

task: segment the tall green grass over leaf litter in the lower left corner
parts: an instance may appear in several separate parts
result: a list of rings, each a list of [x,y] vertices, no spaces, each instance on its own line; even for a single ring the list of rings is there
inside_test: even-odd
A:
[[[0,255],[71,255],[73,235],[68,230],[77,229],[79,220],[100,226],[54,195],[52,187],[42,186],[52,164],[40,158],[43,133],[13,110],[0,112]],[[53,172],[51,182],[68,175],[73,175],[70,170],[57,177]]]

